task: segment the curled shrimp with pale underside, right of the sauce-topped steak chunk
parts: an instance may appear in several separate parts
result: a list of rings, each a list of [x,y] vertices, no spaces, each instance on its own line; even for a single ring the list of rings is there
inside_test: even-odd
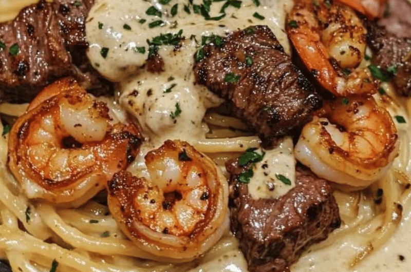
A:
[[[317,176],[362,189],[381,179],[398,155],[393,118],[372,96],[329,102],[305,125],[295,157]]]

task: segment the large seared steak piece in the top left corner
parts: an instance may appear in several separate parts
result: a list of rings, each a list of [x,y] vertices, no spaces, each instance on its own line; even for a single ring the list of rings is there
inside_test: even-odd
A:
[[[93,4],[42,0],[0,24],[0,101],[30,101],[51,81],[68,75],[86,88],[107,91],[85,54],[85,20]]]

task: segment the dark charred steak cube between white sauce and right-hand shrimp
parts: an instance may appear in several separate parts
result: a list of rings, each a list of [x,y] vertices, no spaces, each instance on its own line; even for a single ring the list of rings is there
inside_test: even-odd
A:
[[[267,26],[234,32],[215,44],[203,47],[204,58],[194,66],[197,83],[227,99],[233,114],[264,141],[300,129],[321,107],[321,97]]]

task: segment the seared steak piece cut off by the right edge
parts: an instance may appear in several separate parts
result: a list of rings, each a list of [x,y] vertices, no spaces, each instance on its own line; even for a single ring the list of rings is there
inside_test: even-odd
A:
[[[374,54],[371,62],[383,70],[396,66],[395,89],[398,94],[411,97],[411,6],[405,0],[389,3],[390,12],[379,22],[387,28],[367,23],[367,40]]]

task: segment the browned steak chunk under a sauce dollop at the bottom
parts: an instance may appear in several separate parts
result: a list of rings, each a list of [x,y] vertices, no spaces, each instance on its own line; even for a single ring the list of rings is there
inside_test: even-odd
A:
[[[253,199],[240,183],[236,163],[227,164],[231,231],[240,242],[250,272],[283,272],[310,245],[327,239],[341,224],[327,181],[297,166],[296,186],[277,199]]]

